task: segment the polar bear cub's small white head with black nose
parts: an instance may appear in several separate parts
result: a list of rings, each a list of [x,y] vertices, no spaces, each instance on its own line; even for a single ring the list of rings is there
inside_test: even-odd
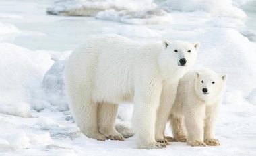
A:
[[[195,72],[195,92],[207,104],[212,104],[222,98],[226,88],[226,74],[205,69]]]

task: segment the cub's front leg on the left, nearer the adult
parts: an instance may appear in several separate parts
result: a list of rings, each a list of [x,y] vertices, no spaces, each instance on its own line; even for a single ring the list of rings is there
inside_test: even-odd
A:
[[[191,98],[189,98],[191,100]],[[188,104],[183,107],[184,121],[187,129],[187,144],[206,146],[203,142],[205,104]]]

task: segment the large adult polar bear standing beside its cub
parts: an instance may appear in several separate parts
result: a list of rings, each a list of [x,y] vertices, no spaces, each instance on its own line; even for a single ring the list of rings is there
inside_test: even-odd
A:
[[[119,35],[88,40],[65,66],[69,106],[82,133],[98,140],[123,140],[115,129],[118,104],[133,102],[138,147],[165,147],[156,141],[164,141],[179,78],[195,64],[198,49],[198,42],[140,44]]]

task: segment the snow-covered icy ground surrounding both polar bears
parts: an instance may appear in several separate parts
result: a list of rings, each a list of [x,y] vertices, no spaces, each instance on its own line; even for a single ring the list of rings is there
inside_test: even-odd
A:
[[[51,0],[1,0],[0,155],[256,155],[256,44],[251,42],[255,29],[245,27],[245,14],[229,1],[217,1],[213,7],[218,11],[200,1],[188,3],[192,8],[172,2],[175,8],[165,5],[172,23],[128,25],[94,17],[47,15]],[[240,6],[244,1],[235,2]],[[230,17],[220,5],[236,13]],[[191,12],[181,12],[187,9]],[[61,76],[71,50],[90,35],[102,33],[141,42],[199,40],[197,66],[228,74],[216,126],[222,145],[172,143],[166,149],[139,150],[134,137],[102,142],[82,135],[67,108]],[[129,121],[131,110],[122,106],[119,118]],[[170,135],[170,129],[166,133]]]

